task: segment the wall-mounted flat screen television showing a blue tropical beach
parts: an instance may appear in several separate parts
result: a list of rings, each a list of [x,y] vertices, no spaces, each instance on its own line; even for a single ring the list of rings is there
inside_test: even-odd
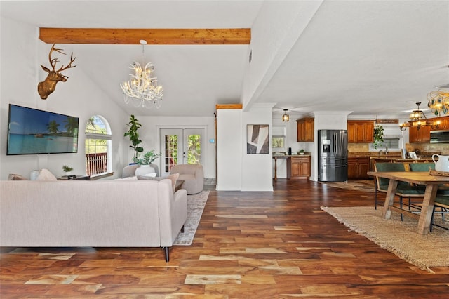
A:
[[[6,154],[78,152],[78,117],[9,105]]]

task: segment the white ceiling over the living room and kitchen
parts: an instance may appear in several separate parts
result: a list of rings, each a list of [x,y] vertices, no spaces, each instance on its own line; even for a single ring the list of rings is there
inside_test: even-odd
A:
[[[273,4],[1,1],[0,10],[6,18],[36,27],[252,28],[254,32],[260,11],[269,2]],[[273,74],[249,79],[269,79],[253,103],[275,103],[276,111],[295,109],[302,114],[340,110],[398,115],[414,109],[415,102],[427,105],[427,93],[449,84],[448,0],[318,2],[307,25],[297,35],[285,37],[294,39],[293,46],[279,48],[288,53],[268,68]],[[288,44],[285,39],[283,44]],[[129,114],[167,116],[212,116],[215,104],[242,102],[251,47],[147,45],[142,53],[138,45],[69,45],[77,69]],[[133,60],[154,63],[164,88],[161,109],[142,110],[123,103],[119,84],[128,79]]]

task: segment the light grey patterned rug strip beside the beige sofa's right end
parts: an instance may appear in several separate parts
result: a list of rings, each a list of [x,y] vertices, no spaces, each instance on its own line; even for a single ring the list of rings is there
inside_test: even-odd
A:
[[[201,191],[198,194],[187,195],[187,220],[184,225],[184,232],[177,235],[173,245],[189,246],[194,240],[196,228],[203,215],[204,206],[208,201],[209,192]]]

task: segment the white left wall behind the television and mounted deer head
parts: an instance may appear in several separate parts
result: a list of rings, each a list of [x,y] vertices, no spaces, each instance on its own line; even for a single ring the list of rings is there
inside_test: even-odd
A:
[[[47,100],[41,100],[37,84],[47,73],[40,65],[48,66],[48,51],[51,45],[38,39],[38,28],[25,23],[1,17],[1,78],[0,78],[0,180],[6,180],[9,173],[29,177],[33,169],[48,168],[57,176],[63,174],[62,165],[74,167],[74,173],[83,175],[85,170],[84,128],[89,117],[101,114],[109,121],[112,129],[112,168],[114,178],[121,176],[121,170],[128,164],[123,148],[128,147],[123,137],[128,115],[114,101],[107,98],[83,73],[81,67],[68,69],[66,82],[59,82],[55,92]],[[72,52],[71,45],[59,45],[65,53]],[[76,53],[74,53],[76,57]],[[67,58],[68,59],[68,58]],[[82,65],[83,58],[76,57]],[[62,62],[64,63],[64,62]],[[77,154],[30,154],[6,156],[8,132],[8,104],[22,105],[51,112],[79,117],[79,147]]]

